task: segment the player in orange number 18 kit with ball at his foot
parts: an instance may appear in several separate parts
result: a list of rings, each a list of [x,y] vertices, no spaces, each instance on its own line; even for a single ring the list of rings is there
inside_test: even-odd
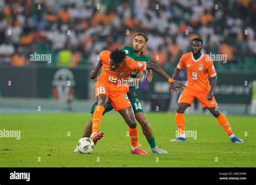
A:
[[[185,87],[185,83],[172,80],[162,69],[150,62],[134,61],[126,56],[125,51],[115,49],[113,51],[103,51],[99,55],[98,65],[102,63],[102,72],[95,83],[95,95],[97,106],[92,115],[92,134],[91,139],[97,143],[98,139],[104,136],[103,132],[99,132],[100,122],[102,121],[105,106],[109,101],[114,110],[118,111],[129,126],[129,134],[131,138],[131,153],[146,155],[147,152],[138,148],[138,126],[132,110],[131,103],[126,93],[129,86],[125,82],[134,70],[152,69],[158,75],[170,82],[170,92],[177,91],[176,88]]]

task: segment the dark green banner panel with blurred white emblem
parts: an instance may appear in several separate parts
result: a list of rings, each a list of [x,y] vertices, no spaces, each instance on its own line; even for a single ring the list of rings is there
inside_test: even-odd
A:
[[[69,95],[87,98],[89,74],[87,69],[38,68],[38,97],[53,97],[65,101]]]

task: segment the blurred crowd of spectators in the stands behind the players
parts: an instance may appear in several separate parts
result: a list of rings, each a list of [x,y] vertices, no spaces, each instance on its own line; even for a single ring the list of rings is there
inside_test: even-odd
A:
[[[162,67],[176,66],[196,36],[204,53],[227,54],[227,65],[216,68],[255,66],[256,1],[5,0],[0,10],[0,65],[92,69],[101,51],[131,45],[144,32],[144,54]],[[52,62],[31,62],[35,52]]]

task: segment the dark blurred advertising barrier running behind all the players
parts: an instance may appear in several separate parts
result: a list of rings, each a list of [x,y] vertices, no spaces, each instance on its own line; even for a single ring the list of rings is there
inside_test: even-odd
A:
[[[0,95],[61,98],[68,92],[77,99],[87,99],[89,80],[89,70],[86,68],[1,66]],[[252,81],[252,72],[218,72],[214,96],[218,103],[249,104],[252,96]],[[165,104],[170,100],[168,82],[155,73],[153,81],[149,84],[141,83],[137,93],[142,100],[151,100],[157,104],[159,101]],[[167,108],[167,105],[164,107]]]

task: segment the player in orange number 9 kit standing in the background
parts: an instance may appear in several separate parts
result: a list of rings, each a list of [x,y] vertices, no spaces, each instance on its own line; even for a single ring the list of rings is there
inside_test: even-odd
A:
[[[181,56],[180,61],[174,70],[173,79],[177,79],[182,68],[187,70],[188,84],[178,100],[176,112],[176,125],[179,130],[179,137],[171,141],[186,141],[185,115],[188,106],[191,106],[194,98],[197,98],[203,108],[207,108],[225,129],[230,139],[234,143],[242,143],[242,139],[235,137],[227,118],[218,109],[218,104],[213,96],[213,91],[217,83],[217,73],[213,61],[209,56],[201,53],[203,40],[195,38],[191,42],[191,51]],[[209,83],[210,77],[210,83]]]

